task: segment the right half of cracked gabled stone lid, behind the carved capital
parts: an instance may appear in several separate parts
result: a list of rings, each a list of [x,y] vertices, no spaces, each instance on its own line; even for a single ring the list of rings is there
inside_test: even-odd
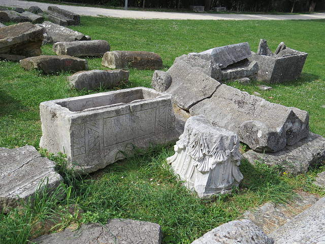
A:
[[[225,84],[189,112],[205,115],[213,126],[235,132],[255,151],[279,151],[309,134],[306,111],[270,103]]]

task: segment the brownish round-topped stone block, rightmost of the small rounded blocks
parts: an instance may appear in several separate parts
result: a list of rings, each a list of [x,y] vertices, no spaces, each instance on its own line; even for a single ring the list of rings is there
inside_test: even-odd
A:
[[[104,54],[102,65],[110,69],[158,70],[163,68],[163,60],[154,52],[112,51]]]

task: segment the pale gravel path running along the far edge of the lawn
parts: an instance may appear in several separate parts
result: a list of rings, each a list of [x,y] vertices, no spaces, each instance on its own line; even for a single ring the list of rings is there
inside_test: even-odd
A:
[[[38,6],[43,10],[54,4],[37,3],[18,0],[0,0],[0,6],[21,7],[28,9],[31,6]],[[194,20],[287,20],[287,19],[325,19],[325,13],[297,14],[297,15],[272,15],[272,14],[211,14],[211,13],[171,13],[154,11],[134,11],[119,9],[103,9],[94,7],[79,7],[60,5],[59,8],[66,9],[80,15],[109,16],[115,18],[131,19],[194,19]]]

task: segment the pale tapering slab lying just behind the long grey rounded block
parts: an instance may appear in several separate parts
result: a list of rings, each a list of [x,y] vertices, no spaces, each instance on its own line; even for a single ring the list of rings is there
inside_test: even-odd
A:
[[[42,24],[47,35],[51,36],[53,42],[74,42],[87,41],[87,37],[80,32],[73,31],[64,26],[54,24],[50,21],[44,21]]]

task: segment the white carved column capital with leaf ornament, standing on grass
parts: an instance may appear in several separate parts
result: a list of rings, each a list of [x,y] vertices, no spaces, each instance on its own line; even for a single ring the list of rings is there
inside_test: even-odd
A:
[[[231,193],[243,179],[238,136],[211,126],[202,115],[187,119],[174,149],[167,162],[200,198]]]

